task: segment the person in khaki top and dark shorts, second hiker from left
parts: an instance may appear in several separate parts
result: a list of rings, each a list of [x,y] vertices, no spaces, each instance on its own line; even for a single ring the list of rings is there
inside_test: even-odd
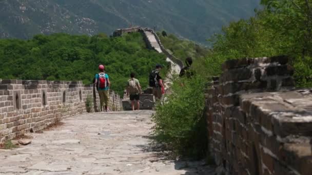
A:
[[[130,95],[131,108],[134,111],[134,101],[136,101],[136,110],[140,110],[140,94],[142,92],[141,85],[138,79],[134,78],[135,74],[130,74],[130,79],[127,85],[127,95]]]

